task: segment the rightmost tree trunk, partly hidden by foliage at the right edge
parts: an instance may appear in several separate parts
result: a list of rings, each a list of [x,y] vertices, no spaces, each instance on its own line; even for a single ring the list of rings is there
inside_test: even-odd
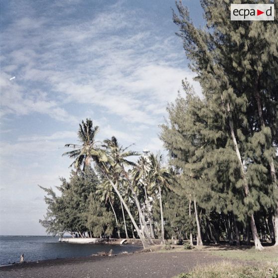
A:
[[[263,117],[261,96],[260,96],[259,90],[258,90],[258,83],[259,83],[259,77],[257,80],[257,88],[255,90],[255,98],[256,98],[257,106],[258,106],[259,118],[260,118],[260,122],[261,122],[261,129],[263,129],[263,128],[265,128],[265,121],[264,121],[264,117]],[[269,164],[270,164],[270,170],[271,170],[271,177],[277,188],[278,184],[277,184],[277,178],[276,178],[276,169],[274,166],[274,161],[273,161],[272,156],[269,161]],[[274,217],[275,217],[275,246],[278,246],[278,203],[276,204]]]

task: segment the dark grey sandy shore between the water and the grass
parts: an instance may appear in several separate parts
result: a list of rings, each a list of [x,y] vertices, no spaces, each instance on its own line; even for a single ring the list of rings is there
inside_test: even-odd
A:
[[[171,278],[223,261],[203,251],[151,252],[56,259],[0,268],[0,278]]]

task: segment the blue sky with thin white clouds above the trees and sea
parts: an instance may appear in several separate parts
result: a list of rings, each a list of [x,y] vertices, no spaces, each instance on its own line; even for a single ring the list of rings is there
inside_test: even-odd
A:
[[[199,1],[183,0],[203,25]],[[187,78],[174,0],[0,0],[0,235],[46,235],[44,191],[68,178],[66,143],[163,151],[159,125]],[[15,78],[13,78],[15,77]]]

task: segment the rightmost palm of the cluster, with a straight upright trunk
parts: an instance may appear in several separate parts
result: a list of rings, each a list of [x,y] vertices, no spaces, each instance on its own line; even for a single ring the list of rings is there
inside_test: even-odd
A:
[[[150,180],[151,187],[154,188],[156,192],[158,189],[161,216],[161,244],[165,244],[161,189],[170,187],[170,173],[166,168],[162,167],[162,155],[154,155],[153,153],[150,154],[148,178]]]

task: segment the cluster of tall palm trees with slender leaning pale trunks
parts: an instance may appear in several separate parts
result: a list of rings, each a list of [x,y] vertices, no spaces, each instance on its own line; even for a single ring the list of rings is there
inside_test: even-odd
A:
[[[118,236],[120,237],[119,221],[114,209],[116,198],[119,198],[121,203],[126,237],[128,238],[125,211],[144,248],[152,245],[155,238],[151,203],[154,199],[159,199],[160,235],[161,243],[164,244],[161,192],[170,187],[171,175],[163,167],[162,155],[140,156],[137,162],[133,162],[129,158],[140,155],[139,152],[129,150],[130,146],[123,147],[115,137],[103,142],[97,141],[98,131],[99,127],[94,127],[90,119],[87,119],[86,122],[82,121],[78,131],[80,144],[66,144],[66,147],[71,147],[73,150],[65,152],[63,155],[74,159],[70,166],[74,166],[76,172],[84,170],[86,166],[94,167],[100,178],[96,193],[102,201],[110,204],[115,216]],[[139,192],[143,192],[143,194],[139,194]],[[131,204],[137,208],[138,220],[131,212]]]

